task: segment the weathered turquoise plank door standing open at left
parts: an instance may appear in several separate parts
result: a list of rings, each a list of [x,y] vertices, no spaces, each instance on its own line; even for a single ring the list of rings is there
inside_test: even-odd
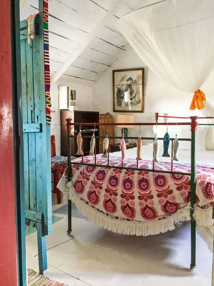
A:
[[[39,272],[47,270],[46,238],[52,232],[51,134],[46,125],[43,0],[28,44],[27,20],[20,22],[24,192],[26,224],[37,228]]]

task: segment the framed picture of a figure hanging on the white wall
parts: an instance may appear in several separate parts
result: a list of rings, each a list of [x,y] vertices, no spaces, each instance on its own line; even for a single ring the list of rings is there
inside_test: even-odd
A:
[[[113,112],[144,111],[144,68],[113,71]]]

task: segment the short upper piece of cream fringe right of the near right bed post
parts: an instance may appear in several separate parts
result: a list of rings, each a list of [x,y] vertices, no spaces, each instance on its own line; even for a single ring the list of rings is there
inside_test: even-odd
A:
[[[213,225],[213,207],[206,208],[205,210],[195,205],[194,218],[199,225]]]

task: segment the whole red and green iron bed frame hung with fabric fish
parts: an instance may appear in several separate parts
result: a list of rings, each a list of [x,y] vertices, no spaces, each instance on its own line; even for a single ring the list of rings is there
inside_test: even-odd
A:
[[[190,119],[190,122],[161,122],[158,123],[158,117],[164,117],[164,118],[181,118],[181,119]],[[191,264],[189,270],[193,270],[195,268],[195,262],[196,262],[196,222],[193,217],[194,212],[194,205],[196,202],[196,161],[195,161],[195,136],[197,131],[197,125],[212,125],[214,124],[199,124],[197,122],[198,119],[213,119],[214,117],[197,117],[197,116],[190,116],[190,117],[174,117],[174,116],[162,116],[159,115],[159,113],[155,113],[155,123],[149,122],[149,123],[71,123],[72,119],[67,118],[66,120],[66,126],[67,126],[67,149],[68,149],[68,166],[67,166],[67,175],[68,175],[68,182],[71,180],[71,166],[72,164],[78,164],[78,165],[84,165],[84,166],[102,166],[106,168],[115,168],[115,169],[126,169],[126,170],[133,170],[133,171],[148,171],[148,172],[159,172],[159,173],[168,173],[168,174],[178,174],[178,175],[186,175],[190,176],[190,216],[191,216]],[[76,137],[77,135],[71,135],[72,126],[74,125],[87,125],[87,126],[100,126],[100,125],[135,125],[135,126],[148,126],[148,125],[190,125],[190,131],[191,131],[191,138],[181,138],[179,141],[191,141],[191,173],[185,173],[185,172],[176,172],[173,171],[173,160],[171,160],[171,171],[163,171],[163,170],[156,170],[155,169],[155,163],[153,162],[153,168],[152,169],[139,169],[138,168],[138,160],[137,161],[137,168],[131,168],[131,167],[124,167],[123,162],[121,163],[121,166],[112,166],[109,165],[109,147],[108,147],[108,164],[107,165],[99,165],[96,162],[96,139],[104,138],[105,136],[95,136],[95,148],[94,148],[94,164],[84,163],[82,156],[82,162],[71,162],[71,138]],[[72,132],[73,133],[73,132]],[[74,134],[74,133],[73,133]],[[91,138],[91,136],[82,136],[82,139],[84,138]],[[109,136],[111,139],[122,139],[121,136]],[[138,137],[124,137],[129,139],[138,139]],[[147,140],[154,140],[154,137],[141,137],[142,139]],[[170,141],[172,142],[172,157],[173,157],[173,141],[175,138],[170,138]],[[163,138],[158,138],[158,140],[163,140]],[[82,148],[83,148],[83,142],[82,142]],[[153,153],[154,154],[154,153]],[[214,208],[213,208],[213,218],[214,218]],[[68,200],[68,230],[67,234],[70,234],[72,232],[72,202],[71,200]]]

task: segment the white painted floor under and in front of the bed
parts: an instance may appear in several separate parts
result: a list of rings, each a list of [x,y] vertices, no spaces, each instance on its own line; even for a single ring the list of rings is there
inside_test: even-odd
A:
[[[51,279],[69,286],[211,285],[212,254],[198,235],[197,267],[188,271],[189,222],[164,234],[137,237],[74,218],[73,238],[66,234],[67,216],[58,216],[63,219],[54,223],[53,234],[46,236],[47,277]],[[38,271],[36,233],[26,236],[26,250],[27,267]]]

